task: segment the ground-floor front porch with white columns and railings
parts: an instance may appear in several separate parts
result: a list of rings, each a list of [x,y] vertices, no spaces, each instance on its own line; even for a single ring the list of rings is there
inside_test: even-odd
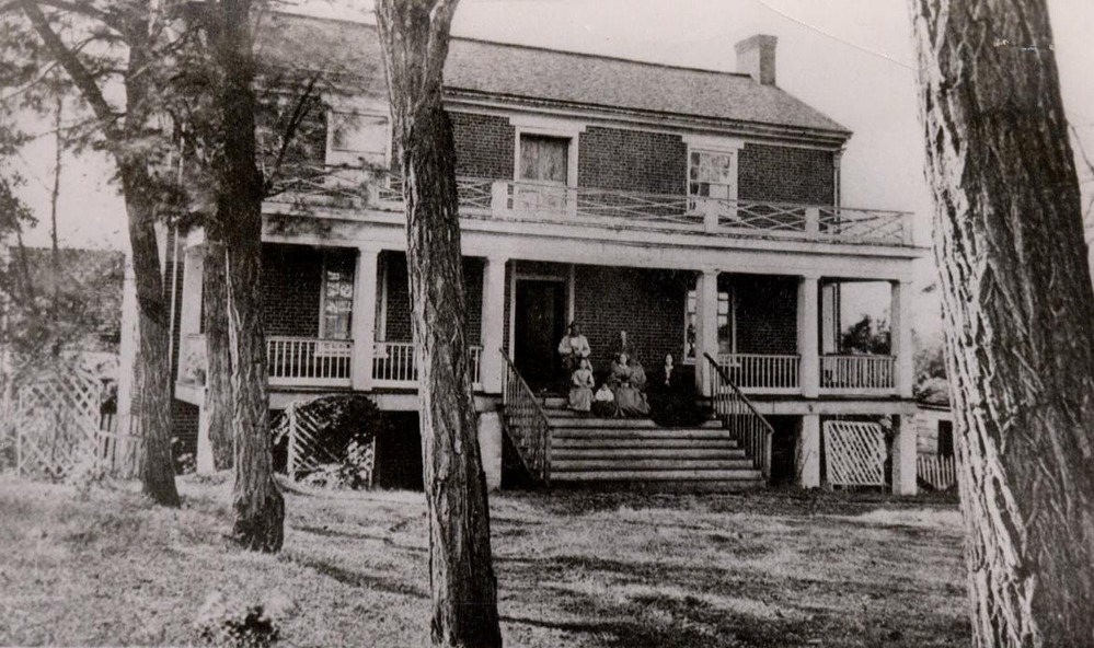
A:
[[[179,382],[204,384],[200,248],[187,251]],[[412,391],[405,256],[398,251],[267,244],[267,370],[276,390]],[[841,282],[820,277],[620,268],[467,257],[474,389],[499,394],[505,349],[522,373],[558,384],[555,347],[579,321],[606,370],[627,331],[647,372],[666,355],[693,364],[710,395],[710,354],[746,394],[762,397],[909,397],[911,348],[901,317],[907,285],[891,284],[886,354],[841,349]],[[815,323],[815,324],[814,324]],[[905,342],[903,345],[901,343]],[[901,349],[903,351],[901,352]],[[554,382],[552,382],[554,381]]]

